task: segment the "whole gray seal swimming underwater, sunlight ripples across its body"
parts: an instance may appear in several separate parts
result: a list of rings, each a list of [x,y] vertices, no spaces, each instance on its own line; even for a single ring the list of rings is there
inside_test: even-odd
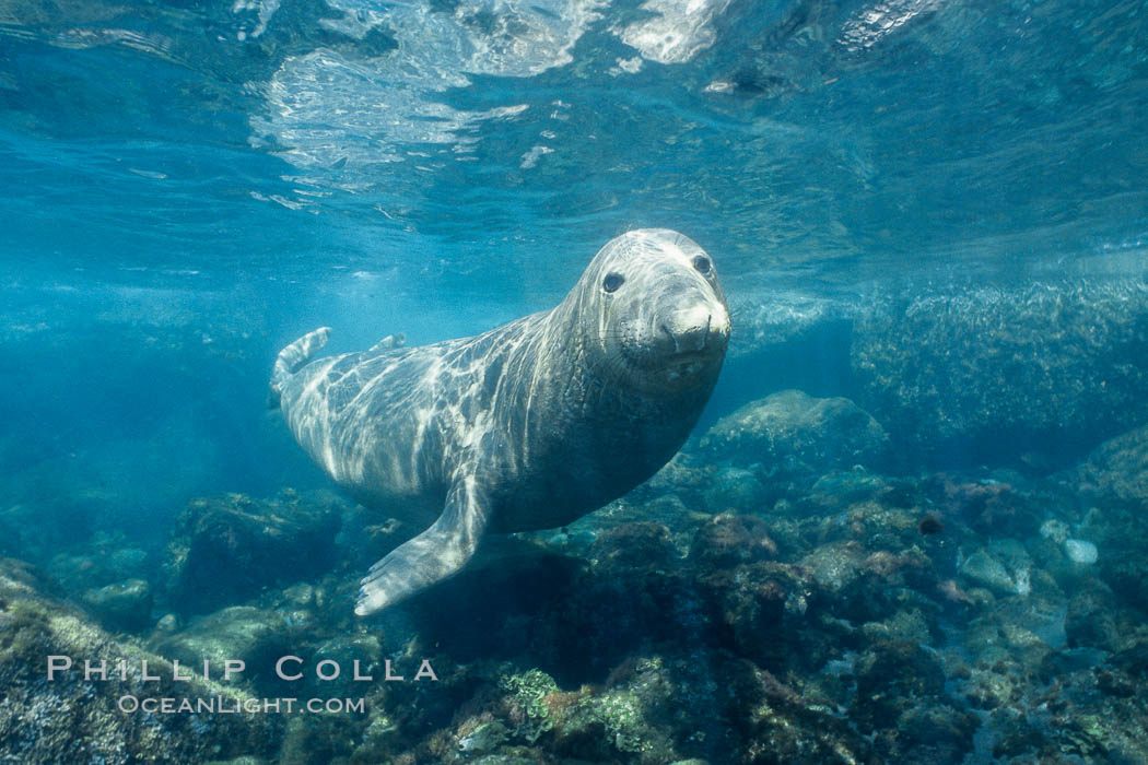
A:
[[[273,399],[336,483],[429,526],[371,568],[365,616],[457,572],[488,531],[565,525],[653,475],[708,400],[730,322],[701,248],[642,229],[557,307],[474,337],[308,362],[327,331],[279,354]]]

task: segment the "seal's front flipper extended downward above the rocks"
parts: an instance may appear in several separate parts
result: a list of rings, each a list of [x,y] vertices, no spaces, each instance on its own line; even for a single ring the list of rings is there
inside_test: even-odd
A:
[[[487,516],[475,477],[456,478],[439,520],[371,567],[360,583],[355,614],[374,614],[457,573],[474,555]]]

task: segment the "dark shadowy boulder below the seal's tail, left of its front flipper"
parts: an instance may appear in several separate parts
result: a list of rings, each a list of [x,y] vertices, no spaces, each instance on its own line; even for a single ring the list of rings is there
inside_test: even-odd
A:
[[[247,601],[334,564],[340,502],[325,492],[193,500],[168,545],[168,599],[184,614]]]

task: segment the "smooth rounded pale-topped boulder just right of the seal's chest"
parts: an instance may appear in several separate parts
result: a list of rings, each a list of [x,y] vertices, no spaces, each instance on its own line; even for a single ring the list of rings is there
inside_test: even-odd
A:
[[[885,430],[853,401],[798,390],[746,404],[719,420],[700,443],[712,459],[814,478],[855,465],[879,467],[887,447]]]

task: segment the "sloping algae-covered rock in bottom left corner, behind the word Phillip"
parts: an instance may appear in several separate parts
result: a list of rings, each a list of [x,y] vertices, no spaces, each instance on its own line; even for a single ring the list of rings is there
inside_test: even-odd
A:
[[[250,698],[235,686],[202,678],[174,681],[163,658],[117,641],[83,612],[44,594],[47,584],[24,564],[0,559],[0,759],[26,763],[199,763],[243,755],[271,757],[280,719],[262,713],[124,712],[122,697]],[[47,678],[47,657],[71,669]],[[84,679],[83,662],[124,659],[127,679]],[[142,679],[142,662],[158,680]]]

